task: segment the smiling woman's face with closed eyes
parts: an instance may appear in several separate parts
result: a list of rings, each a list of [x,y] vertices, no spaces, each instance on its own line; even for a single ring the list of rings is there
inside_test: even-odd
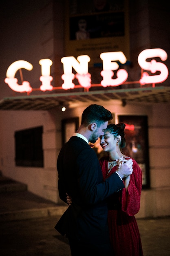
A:
[[[116,143],[117,140],[114,135],[108,131],[104,132],[103,136],[100,136],[100,146],[105,152],[115,151]]]

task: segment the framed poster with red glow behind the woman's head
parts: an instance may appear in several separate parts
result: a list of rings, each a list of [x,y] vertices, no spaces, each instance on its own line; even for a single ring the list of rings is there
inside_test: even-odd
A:
[[[142,170],[142,187],[150,187],[149,152],[148,152],[148,118],[147,116],[119,115],[119,123],[126,124],[126,148],[124,154],[136,160]]]

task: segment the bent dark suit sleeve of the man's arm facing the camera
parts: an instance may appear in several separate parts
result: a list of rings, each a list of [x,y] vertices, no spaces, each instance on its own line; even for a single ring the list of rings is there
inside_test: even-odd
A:
[[[81,160],[76,163],[79,170],[77,179],[84,203],[95,204],[124,188],[123,182],[116,173],[103,181],[99,161],[92,149],[82,150],[80,154],[78,159]]]

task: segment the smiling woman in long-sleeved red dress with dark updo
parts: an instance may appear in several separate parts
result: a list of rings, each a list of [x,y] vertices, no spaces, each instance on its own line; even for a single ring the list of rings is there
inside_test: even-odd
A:
[[[125,124],[109,124],[100,137],[100,145],[108,157],[99,162],[104,180],[130,157],[122,153],[126,142]],[[143,256],[141,238],[135,214],[140,209],[142,171],[133,160],[133,173],[124,179],[125,188],[108,199],[108,226],[115,256]]]

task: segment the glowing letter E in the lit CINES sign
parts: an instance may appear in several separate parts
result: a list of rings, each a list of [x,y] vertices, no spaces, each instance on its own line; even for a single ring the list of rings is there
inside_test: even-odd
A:
[[[120,63],[126,63],[127,59],[123,52],[103,52],[100,54],[100,58],[103,60],[103,70],[100,73],[103,76],[103,80],[101,81],[101,85],[103,87],[106,86],[118,86],[124,83],[128,78],[128,72],[124,69],[120,69],[117,71],[117,78],[112,79],[114,76],[114,72],[112,70],[117,70],[119,65],[115,61],[119,61]]]

